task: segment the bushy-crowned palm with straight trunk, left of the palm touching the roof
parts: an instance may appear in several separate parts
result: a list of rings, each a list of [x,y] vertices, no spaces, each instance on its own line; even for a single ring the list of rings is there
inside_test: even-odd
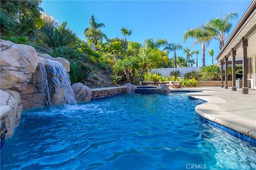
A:
[[[202,43],[202,65],[205,66],[205,46],[208,46],[210,41],[215,36],[212,28],[206,26],[199,26],[197,28],[190,28],[183,34],[183,41],[186,42],[188,38],[194,38],[196,41],[192,44],[196,45]]]

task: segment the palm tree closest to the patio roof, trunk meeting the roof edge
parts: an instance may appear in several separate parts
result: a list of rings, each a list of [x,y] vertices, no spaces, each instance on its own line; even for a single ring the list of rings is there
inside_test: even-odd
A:
[[[232,28],[231,21],[238,18],[238,13],[230,12],[225,15],[224,18],[215,18],[206,23],[206,26],[214,29],[216,40],[220,42],[219,48],[222,49],[225,40],[228,38],[225,34],[228,34]]]

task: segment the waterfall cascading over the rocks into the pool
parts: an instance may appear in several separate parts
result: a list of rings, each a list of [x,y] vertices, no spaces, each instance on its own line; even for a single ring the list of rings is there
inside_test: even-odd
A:
[[[47,106],[76,103],[70,84],[68,73],[61,63],[38,57],[34,86],[43,94]]]

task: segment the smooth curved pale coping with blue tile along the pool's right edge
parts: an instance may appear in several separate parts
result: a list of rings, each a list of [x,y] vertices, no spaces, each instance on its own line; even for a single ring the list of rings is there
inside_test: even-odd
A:
[[[190,90],[186,89],[186,91]],[[186,94],[188,97],[207,101],[195,107],[198,115],[206,123],[256,146],[256,122],[252,119],[234,114],[232,111],[223,110],[222,106],[226,105],[226,100],[214,95],[214,93],[206,95],[207,92],[207,90],[198,90],[196,93],[191,91]]]

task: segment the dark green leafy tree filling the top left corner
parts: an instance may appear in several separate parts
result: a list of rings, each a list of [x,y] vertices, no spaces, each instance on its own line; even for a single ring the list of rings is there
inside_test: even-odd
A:
[[[28,36],[33,38],[36,23],[41,22],[42,0],[0,1],[1,36]],[[40,24],[39,24],[40,25]]]

